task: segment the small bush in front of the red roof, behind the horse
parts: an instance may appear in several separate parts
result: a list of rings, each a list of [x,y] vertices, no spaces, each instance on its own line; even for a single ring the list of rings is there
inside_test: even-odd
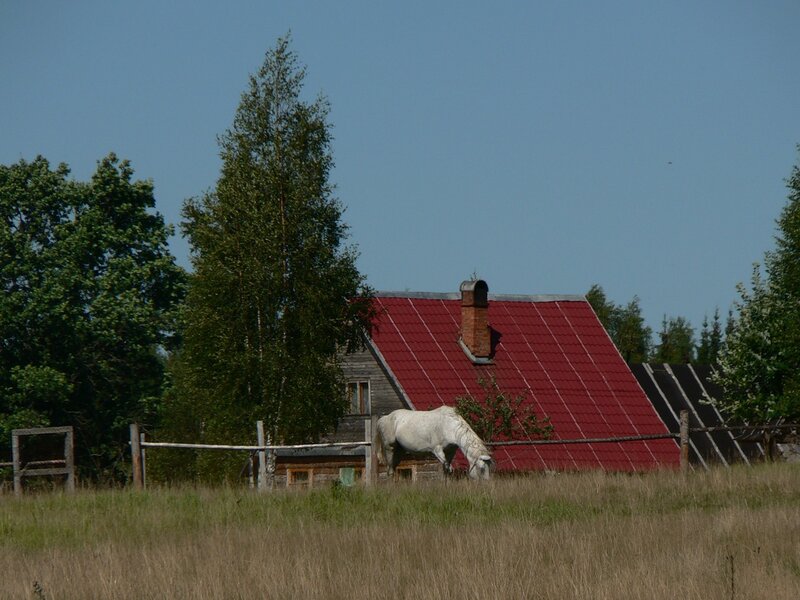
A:
[[[459,396],[456,410],[483,441],[550,437],[553,426],[549,418],[537,417],[533,407],[525,404],[524,394],[512,396],[503,392],[494,375],[488,380],[478,379],[478,385],[482,396]]]

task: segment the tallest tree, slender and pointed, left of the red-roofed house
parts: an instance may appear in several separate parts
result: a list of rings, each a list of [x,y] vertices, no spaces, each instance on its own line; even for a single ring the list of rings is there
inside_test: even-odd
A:
[[[347,410],[337,352],[361,342],[371,293],[328,181],[328,103],[301,99],[304,76],[279,40],[219,138],[216,189],[184,205],[194,275],[162,435],[252,441],[262,419],[271,440],[301,442]]]

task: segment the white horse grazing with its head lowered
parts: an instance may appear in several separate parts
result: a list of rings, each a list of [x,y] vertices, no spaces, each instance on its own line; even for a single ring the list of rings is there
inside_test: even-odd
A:
[[[400,409],[378,419],[375,453],[388,475],[403,458],[404,452],[433,452],[445,474],[453,472],[451,463],[461,449],[469,463],[472,479],[489,479],[492,457],[472,427],[450,406],[418,411]]]

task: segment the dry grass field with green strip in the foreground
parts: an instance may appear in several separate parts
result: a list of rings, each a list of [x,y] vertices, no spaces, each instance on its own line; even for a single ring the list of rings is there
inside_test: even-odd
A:
[[[0,598],[800,597],[800,468],[0,496]]]

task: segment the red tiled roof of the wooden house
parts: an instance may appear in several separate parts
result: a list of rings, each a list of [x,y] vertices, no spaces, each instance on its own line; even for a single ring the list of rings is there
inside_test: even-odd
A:
[[[386,294],[376,298],[372,341],[417,410],[480,398],[478,379],[523,394],[548,416],[554,439],[668,433],[591,306],[579,297],[489,297],[499,335],[492,364],[474,364],[458,343],[461,302],[452,295]],[[639,471],[679,464],[674,440],[500,446],[500,470]]]

